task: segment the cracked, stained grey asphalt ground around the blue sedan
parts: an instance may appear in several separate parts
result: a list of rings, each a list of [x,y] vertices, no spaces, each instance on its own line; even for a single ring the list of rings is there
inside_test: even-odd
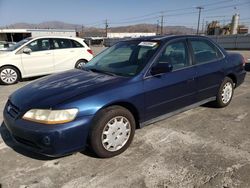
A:
[[[8,95],[30,81],[0,86],[0,124]],[[9,142],[2,125],[0,187],[250,187],[249,110],[250,72],[228,107],[205,105],[139,129],[110,159],[42,157]]]

